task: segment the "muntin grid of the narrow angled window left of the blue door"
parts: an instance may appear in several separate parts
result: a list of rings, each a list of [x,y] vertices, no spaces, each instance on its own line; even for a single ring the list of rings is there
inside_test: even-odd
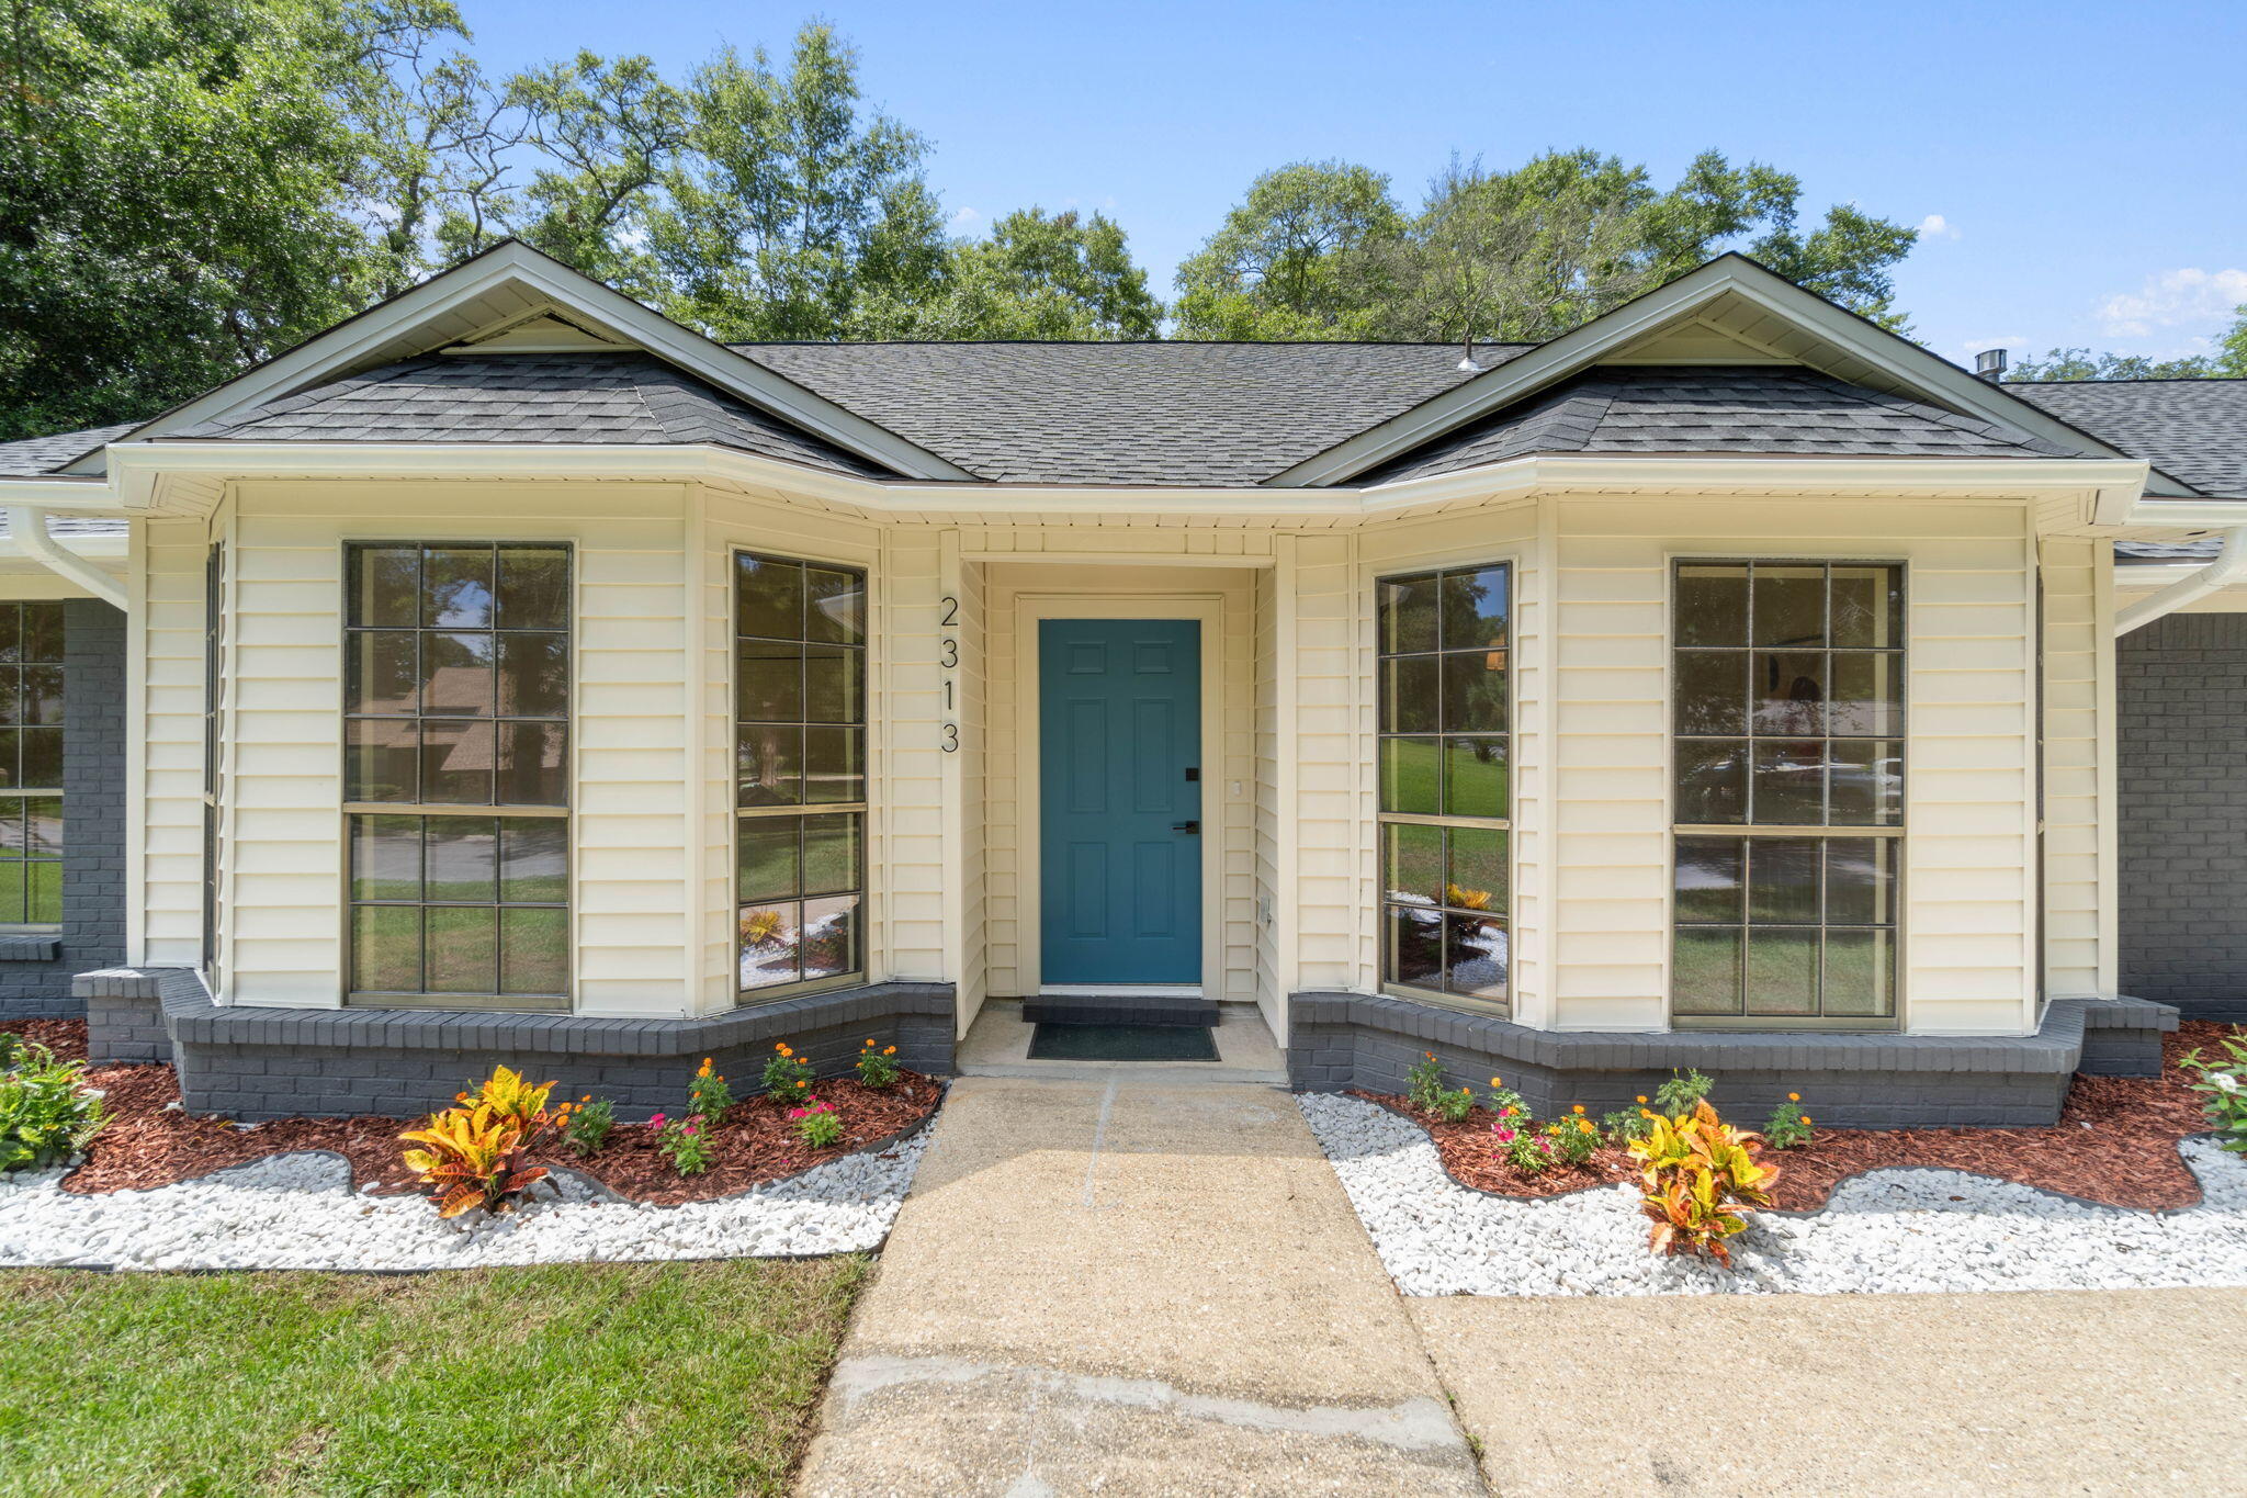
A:
[[[768,573],[771,570],[771,573]],[[748,606],[750,579],[759,575],[795,575],[798,591],[793,604],[793,633],[786,633],[786,620],[773,620],[766,615],[762,604],[757,609]],[[816,595],[813,577],[822,577],[829,584],[827,593]],[[843,566],[834,561],[820,561],[809,557],[782,557],[755,550],[733,552],[733,723],[735,723],[735,862],[733,862],[733,889],[735,889],[735,999],[739,1004],[762,1004],[768,999],[780,999],[798,993],[816,993],[820,988],[834,988],[852,981],[863,981],[867,968],[867,847],[865,847],[865,811],[867,811],[867,672],[870,672],[870,647],[865,629],[867,588],[870,579],[865,568]],[[782,584],[786,586],[786,584]],[[762,597],[762,593],[759,593]],[[843,600],[843,613],[822,611],[822,600]],[[854,611],[854,613],[852,613]],[[825,622],[816,622],[825,620]],[[795,669],[795,714],[759,714],[748,716],[748,667],[750,658],[762,660],[784,660],[786,654],[773,654],[773,647],[793,647]],[[762,654],[750,654],[762,651]],[[843,678],[838,685],[845,687],[843,696],[836,698],[836,714],[813,716],[813,683],[811,663],[813,660],[836,660],[843,667]],[[762,701],[762,698],[759,698]],[[782,800],[786,791],[775,793],[773,779],[757,784],[757,797],[750,800],[750,732],[782,732],[795,734],[795,759],[786,775],[780,777],[784,784],[793,779],[793,800]],[[825,734],[829,746],[854,746],[840,759],[829,759],[827,770],[816,770],[811,761],[813,734]],[[816,800],[813,775],[834,773],[840,777],[829,791],[838,800]],[[847,887],[825,887],[820,892],[807,889],[804,867],[807,849],[811,847],[813,829],[825,824],[849,826],[849,885]],[[786,894],[773,894],[768,898],[748,898],[744,889],[748,887],[748,871],[744,860],[753,840],[771,838],[771,829],[789,824],[793,826],[793,858],[795,858],[795,885]],[[822,916],[843,916],[840,925],[840,959],[829,959],[820,970],[811,970],[813,939],[804,934],[807,912],[818,910]],[[766,912],[780,916],[780,925],[771,928],[773,934],[753,934],[766,930],[764,923],[771,919]],[[836,937],[829,937],[831,943]],[[793,943],[793,946],[789,946]],[[786,950],[784,950],[786,948]],[[834,948],[827,948],[834,952]],[[762,981],[750,984],[750,972],[762,977]]]

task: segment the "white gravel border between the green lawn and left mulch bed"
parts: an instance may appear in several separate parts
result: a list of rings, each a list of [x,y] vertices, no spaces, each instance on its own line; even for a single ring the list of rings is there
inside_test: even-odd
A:
[[[178,1186],[74,1197],[67,1170],[0,1177],[0,1267],[483,1269],[685,1258],[802,1258],[879,1249],[930,1127],[715,1202],[643,1206],[573,1170],[560,1199],[470,1228],[422,1197],[351,1190],[351,1163],[299,1150]]]

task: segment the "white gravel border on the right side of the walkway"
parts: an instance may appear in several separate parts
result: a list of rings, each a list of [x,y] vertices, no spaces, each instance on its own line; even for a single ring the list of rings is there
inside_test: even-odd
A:
[[[2182,1145],[2202,1204],[2146,1213],[1962,1170],[1872,1170],[1813,1213],[1757,1213],[1732,1269],[1647,1251],[1634,1186],[1492,1197],[1384,1107],[1297,1103],[1407,1296],[1723,1296],[2247,1285],[2247,1161]],[[1784,1161],[1782,1161],[1784,1170]]]

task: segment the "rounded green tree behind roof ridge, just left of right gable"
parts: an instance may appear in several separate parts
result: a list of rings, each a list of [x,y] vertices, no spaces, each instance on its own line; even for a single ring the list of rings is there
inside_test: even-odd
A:
[[[1177,267],[1177,337],[1348,339],[1391,292],[1404,216],[1389,177],[1350,162],[1294,162]]]

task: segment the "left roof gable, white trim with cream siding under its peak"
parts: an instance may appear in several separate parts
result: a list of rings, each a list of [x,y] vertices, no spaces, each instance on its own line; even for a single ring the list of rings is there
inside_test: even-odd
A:
[[[319,384],[506,335],[542,317],[593,341],[654,355],[883,472],[906,478],[975,476],[517,240],[344,319],[216,391],[135,427],[124,440],[175,436]],[[101,456],[88,454],[70,472],[101,472]]]

